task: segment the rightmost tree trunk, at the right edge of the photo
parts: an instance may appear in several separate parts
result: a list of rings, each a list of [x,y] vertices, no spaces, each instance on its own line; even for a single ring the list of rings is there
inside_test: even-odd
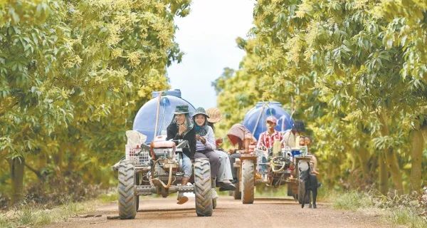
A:
[[[421,130],[411,132],[412,141],[412,167],[411,167],[411,192],[421,190],[421,160],[423,158],[424,138]]]

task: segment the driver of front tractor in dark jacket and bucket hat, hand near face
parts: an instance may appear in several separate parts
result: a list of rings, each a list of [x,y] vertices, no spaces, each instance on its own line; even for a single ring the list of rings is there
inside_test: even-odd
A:
[[[189,142],[189,148],[182,149],[182,170],[184,176],[181,180],[181,185],[186,185],[192,174],[192,163],[194,160],[194,153],[196,152],[196,133],[194,131],[194,125],[190,118],[189,106],[188,105],[176,105],[174,118],[167,127],[167,140],[187,140]],[[189,200],[188,197],[184,196],[183,192],[178,193],[177,204],[184,204]]]

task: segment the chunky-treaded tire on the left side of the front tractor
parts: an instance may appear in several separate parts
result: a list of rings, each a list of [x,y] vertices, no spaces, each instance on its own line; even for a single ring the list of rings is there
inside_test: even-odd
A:
[[[135,197],[135,167],[131,161],[122,160],[119,164],[119,217],[135,219],[137,197]]]

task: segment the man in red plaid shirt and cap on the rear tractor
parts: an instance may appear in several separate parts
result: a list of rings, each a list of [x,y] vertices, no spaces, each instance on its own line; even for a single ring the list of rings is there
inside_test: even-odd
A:
[[[260,150],[270,150],[275,140],[280,142],[283,140],[283,135],[274,129],[278,123],[278,119],[270,115],[265,122],[267,124],[267,130],[260,134],[258,144],[256,145]]]

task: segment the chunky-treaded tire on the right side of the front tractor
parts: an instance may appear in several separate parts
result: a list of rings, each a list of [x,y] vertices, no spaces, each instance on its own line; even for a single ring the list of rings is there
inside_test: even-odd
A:
[[[194,162],[194,195],[196,214],[211,217],[212,207],[211,165],[207,158],[196,158]]]

